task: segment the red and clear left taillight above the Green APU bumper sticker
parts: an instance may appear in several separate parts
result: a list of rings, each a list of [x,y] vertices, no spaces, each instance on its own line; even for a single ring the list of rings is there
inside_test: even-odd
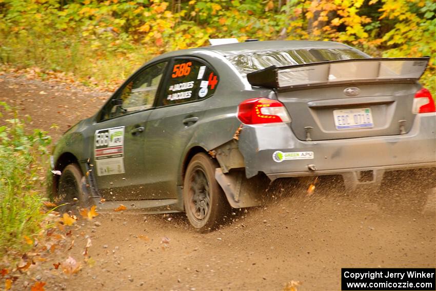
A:
[[[247,99],[239,104],[237,118],[245,124],[289,122],[285,106],[268,98]]]

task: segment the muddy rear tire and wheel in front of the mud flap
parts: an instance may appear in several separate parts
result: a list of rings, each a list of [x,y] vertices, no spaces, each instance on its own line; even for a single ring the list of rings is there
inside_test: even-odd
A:
[[[215,180],[216,163],[205,153],[192,157],[186,169],[183,202],[186,216],[200,231],[215,229],[229,209],[229,204]]]

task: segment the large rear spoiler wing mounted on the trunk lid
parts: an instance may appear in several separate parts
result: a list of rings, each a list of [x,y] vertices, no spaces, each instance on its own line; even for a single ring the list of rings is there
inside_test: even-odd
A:
[[[379,57],[271,66],[247,74],[252,86],[278,90],[371,82],[417,81],[430,57]]]

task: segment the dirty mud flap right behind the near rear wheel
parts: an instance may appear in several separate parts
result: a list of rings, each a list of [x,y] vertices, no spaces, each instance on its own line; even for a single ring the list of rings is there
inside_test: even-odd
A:
[[[256,176],[247,179],[244,171],[235,170],[225,174],[221,168],[217,168],[215,179],[226,194],[231,207],[264,205],[264,195],[270,182],[268,178]]]

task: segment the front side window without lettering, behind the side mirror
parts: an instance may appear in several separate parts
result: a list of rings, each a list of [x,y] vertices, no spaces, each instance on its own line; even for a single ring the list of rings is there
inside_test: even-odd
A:
[[[136,74],[121,93],[113,96],[101,120],[151,108],[166,65],[159,63]]]

